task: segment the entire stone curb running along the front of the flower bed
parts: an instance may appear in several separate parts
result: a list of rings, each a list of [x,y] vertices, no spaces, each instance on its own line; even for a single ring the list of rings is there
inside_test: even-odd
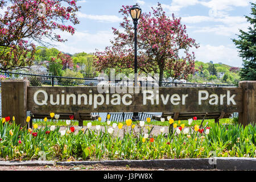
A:
[[[102,164],[105,166],[130,166],[144,168],[176,169],[220,169],[220,170],[256,170],[256,158],[203,158],[203,159],[157,159],[157,160],[101,160],[101,161],[0,161],[0,166],[79,166]]]

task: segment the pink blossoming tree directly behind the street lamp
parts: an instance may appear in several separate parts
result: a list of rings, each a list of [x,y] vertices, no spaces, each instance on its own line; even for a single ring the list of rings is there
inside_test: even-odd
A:
[[[112,28],[115,38],[104,52],[96,51],[95,64],[98,71],[116,68],[119,71],[134,68],[134,25],[130,19],[131,6],[122,6],[119,11],[124,17],[120,27]],[[180,18],[166,16],[158,3],[151,13],[143,13],[138,23],[138,68],[144,73],[159,73],[163,80],[164,71],[172,78],[187,78],[194,72],[195,55],[189,48],[198,48],[194,39],[186,34]],[[184,56],[179,55],[184,52]],[[160,82],[159,82],[160,84]]]

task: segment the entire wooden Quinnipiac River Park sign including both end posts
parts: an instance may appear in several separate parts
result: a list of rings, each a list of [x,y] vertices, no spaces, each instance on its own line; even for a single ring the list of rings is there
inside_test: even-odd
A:
[[[256,81],[239,87],[29,86],[27,80],[2,81],[2,117],[26,124],[33,115],[119,112],[239,113],[239,122],[256,121]],[[79,117],[78,117],[79,118]]]

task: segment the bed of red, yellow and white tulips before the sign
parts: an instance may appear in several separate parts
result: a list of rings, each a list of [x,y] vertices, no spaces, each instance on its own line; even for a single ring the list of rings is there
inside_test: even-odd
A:
[[[51,113],[51,117],[54,117]],[[0,158],[5,160],[103,160],[103,159],[181,159],[209,158],[210,156],[255,157],[256,126],[218,126],[209,124],[200,127],[193,119],[189,127],[169,118],[174,134],[160,129],[152,134],[152,127],[143,132],[146,121],[138,123],[127,119],[125,123],[97,125],[92,123],[75,131],[72,117],[65,130],[60,126],[47,125],[39,129],[21,128],[15,118],[2,118],[0,123]],[[30,117],[27,118],[27,122]],[[117,130],[117,131],[114,131]],[[119,137],[120,134],[122,137]]]

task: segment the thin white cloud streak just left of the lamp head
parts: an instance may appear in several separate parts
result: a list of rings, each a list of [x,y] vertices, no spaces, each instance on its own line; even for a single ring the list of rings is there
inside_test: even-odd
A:
[[[79,18],[87,18],[92,20],[98,20],[99,22],[108,22],[108,23],[115,23],[122,21],[122,18],[119,18],[115,15],[88,15],[84,13],[77,13]]]

